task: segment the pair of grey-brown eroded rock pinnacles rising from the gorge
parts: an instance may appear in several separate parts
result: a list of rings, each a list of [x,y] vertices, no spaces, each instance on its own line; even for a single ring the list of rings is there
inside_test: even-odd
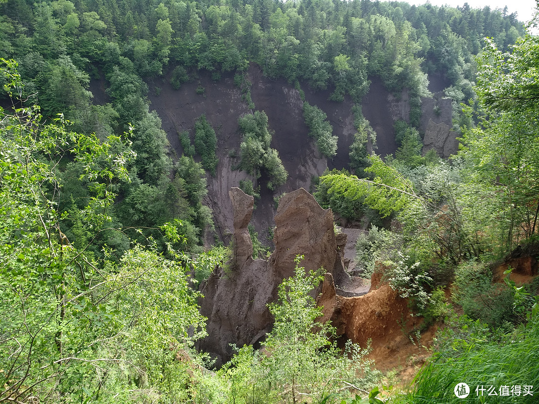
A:
[[[307,271],[321,267],[345,280],[342,250],[345,234],[336,241],[333,214],[324,210],[305,189],[281,198],[274,232],[275,251],[269,260],[253,260],[246,232],[252,214],[252,197],[238,188],[230,191],[234,212],[233,258],[229,269],[219,269],[202,285],[201,312],[208,317],[208,337],[198,348],[217,359],[217,366],[232,356],[231,343],[255,345],[271,330],[267,304],[277,297],[277,287],[294,275],[294,258],[305,255]]]

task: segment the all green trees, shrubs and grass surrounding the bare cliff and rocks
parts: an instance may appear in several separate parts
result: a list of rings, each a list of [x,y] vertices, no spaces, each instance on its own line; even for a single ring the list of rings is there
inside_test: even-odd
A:
[[[232,76],[251,112],[231,153],[253,181],[238,186],[259,197],[264,176],[277,201],[289,175],[251,99],[250,65],[300,94],[329,89],[329,100],[355,105],[348,170],[314,179],[314,196],[368,221],[362,276],[383,266],[425,326],[445,324],[416,384],[390,400],[457,401],[464,380],[539,386],[539,285],[517,285],[511,268],[493,283],[497,263],[536,256],[539,243],[539,39],[507,9],[370,0],[6,0],[0,9],[0,402],[379,402],[381,374],[365,347],[343,351],[335,329],[316,322],[309,292],[322,277],[300,259],[269,305],[267,354],[238,347],[217,370],[194,349],[206,333],[198,284],[230,258],[223,240],[204,238],[219,131],[201,115],[191,133],[165,133],[148,93]],[[461,144],[448,161],[421,150],[429,77],[452,100]],[[383,159],[360,108],[372,78],[410,95],[398,148]],[[91,85],[104,87],[100,102]],[[326,114],[302,108],[331,159]]]

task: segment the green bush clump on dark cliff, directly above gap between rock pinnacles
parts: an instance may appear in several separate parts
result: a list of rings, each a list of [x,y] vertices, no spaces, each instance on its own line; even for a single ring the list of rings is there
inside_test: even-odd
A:
[[[270,147],[271,133],[268,130],[268,118],[264,111],[255,111],[238,120],[243,138],[240,143],[239,168],[255,178],[260,178],[265,170],[269,180],[267,187],[274,190],[286,182],[288,172],[282,165],[277,150]]]

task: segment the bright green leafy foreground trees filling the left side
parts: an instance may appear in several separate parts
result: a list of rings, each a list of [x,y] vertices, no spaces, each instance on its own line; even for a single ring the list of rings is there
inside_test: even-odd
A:
[[[11,93],[19,83],[14,67],[8,64]],[[188,270],[207,273],[225,254],[193,259],[177,252],[175,245],[188,244],[189,224],[175,220],[161,226],[167,257],[150,238],[149,248],[134,243],[119,259],[118,249],[106,245],[102,257],[93,257],[93,239],[125,231],[109,228],[107,213],[116,184],[129,181],[126,165],[135,154],[125,138],[74,133],[61,117],[45,124],[37,110],[1,116],[0,399],[188,399],[195,377],[190,350],[205,335]],[[59,175],[66,159],[68,175]],[[75,174],[86,201],[63,195]],[[70,211],[61,211],[58,200],[69,200]],[[83,240],[71,242],[61,231],[71,214],[72,234]]]

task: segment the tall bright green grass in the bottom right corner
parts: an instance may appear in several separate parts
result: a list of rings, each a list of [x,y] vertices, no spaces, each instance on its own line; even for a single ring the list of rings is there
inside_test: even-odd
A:
[[[479,322],[460,318],[429,364],[418,374],[411,392],[395,396],[394,403],[537,403],[539,402],[539,317],[510,333],[492,333]],[[454,394],[460,383],[469,386],[467,398]],[[494,386],[476,392],[476,387]],[[509,396],[500,387],[509,387]],[[512,387],[521,386],[521,395]],[[524,386],[533,386],[533,395],[524,396]]]

